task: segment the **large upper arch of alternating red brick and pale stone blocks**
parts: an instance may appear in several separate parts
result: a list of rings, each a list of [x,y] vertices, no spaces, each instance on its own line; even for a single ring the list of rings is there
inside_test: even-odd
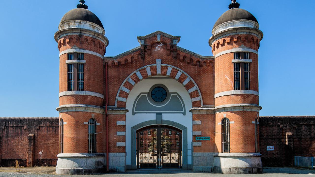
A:
[[[126,107],[130,90],[140,81],[152,76],[166,76],[180,82],[187,90],[192,101],[192,107],[203,106],[201,92],[196,82],[185,71],[167,64],[152,64],[133,71],[118,89],[115,107]]]

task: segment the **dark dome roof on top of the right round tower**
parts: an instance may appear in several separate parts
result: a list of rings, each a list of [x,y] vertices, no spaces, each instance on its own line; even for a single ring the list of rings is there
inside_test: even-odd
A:
[[[249,13],[247,10],[234,8],[222,14],[221,17],[217,20],[217,22],[215,22],[215,26],[213,26],[213,28],[215,28],[218,25],[221,25],[222,23],[232,20],[252,20],[258,23],[254,15]]]

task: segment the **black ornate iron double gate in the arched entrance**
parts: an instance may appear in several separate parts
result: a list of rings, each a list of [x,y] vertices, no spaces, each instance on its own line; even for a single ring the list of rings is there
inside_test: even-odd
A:
[[[137,131],[137,168],[181,168],[182,134],[166,126]]]

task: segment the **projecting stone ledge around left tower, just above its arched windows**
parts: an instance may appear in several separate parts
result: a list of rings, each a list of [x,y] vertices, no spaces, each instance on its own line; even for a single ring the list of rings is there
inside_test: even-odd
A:
[[[104,114],[105,110],[100,106],[93,106],[93,105],[61,105],[56,108],[59,113],[61,112],[95,112]]]

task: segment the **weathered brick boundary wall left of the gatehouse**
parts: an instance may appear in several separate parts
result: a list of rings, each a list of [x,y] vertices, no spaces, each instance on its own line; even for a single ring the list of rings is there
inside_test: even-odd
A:
[[[0,117],[0,166],[56,166],[59,117]]]

